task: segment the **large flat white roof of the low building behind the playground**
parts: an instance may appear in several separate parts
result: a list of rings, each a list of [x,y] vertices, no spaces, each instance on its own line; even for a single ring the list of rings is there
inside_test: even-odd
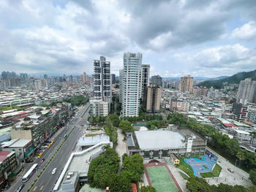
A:
[[[185,138],[174,131],[135,131],[141,150],[154,150],[184,147]]]

